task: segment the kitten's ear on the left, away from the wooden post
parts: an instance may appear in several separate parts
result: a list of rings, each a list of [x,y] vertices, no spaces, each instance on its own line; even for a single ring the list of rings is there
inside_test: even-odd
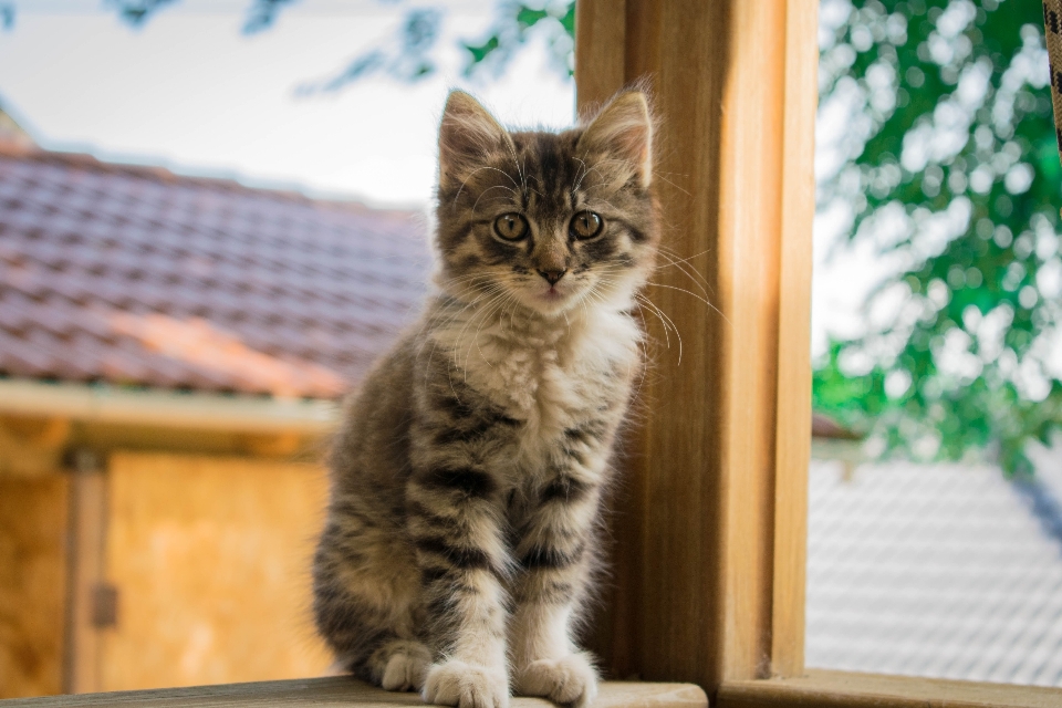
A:
[[[439,126],[439,187],[462,183],[492,153],[512,150],[506,128],[476,98],[452,91]]]

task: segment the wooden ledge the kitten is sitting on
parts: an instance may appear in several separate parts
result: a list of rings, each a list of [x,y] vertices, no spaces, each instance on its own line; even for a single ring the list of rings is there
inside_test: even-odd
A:
[[[54,708],[73,706],[392,708],[393,706],[421,705],[417,694],[395,694],[346,676],[0,700],[0,706],[3,708],[17,706],[32,708],[49,706]],[[606,681],[601,685],[601,695],[594,706],[595,708],[708,708],[708,698],[699,686],[693,684]],[[555,708],[555,706],[541,698],[513,698],[512,708]]]

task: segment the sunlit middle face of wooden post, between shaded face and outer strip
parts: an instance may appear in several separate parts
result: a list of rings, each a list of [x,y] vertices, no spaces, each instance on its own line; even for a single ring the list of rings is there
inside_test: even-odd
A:
[[[785,2],[735,2],[726,66],[718,290],[722,391],[718,679],[768,675],[773,574]]]

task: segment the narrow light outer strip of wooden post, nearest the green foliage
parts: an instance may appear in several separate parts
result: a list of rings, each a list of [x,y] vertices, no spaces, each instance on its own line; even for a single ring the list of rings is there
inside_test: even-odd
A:
[[[804,670],[808,462],[811,458],[811,273],[815,217],[819,1],[785,8],[785,100],[779,287],[778,430],[771,673]]]

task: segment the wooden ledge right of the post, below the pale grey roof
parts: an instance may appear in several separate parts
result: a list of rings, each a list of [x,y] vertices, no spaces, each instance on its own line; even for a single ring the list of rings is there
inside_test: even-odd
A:
[[[809,670],[801,678],[727,681],[716,708],[1059,708],[1062,688]]]

